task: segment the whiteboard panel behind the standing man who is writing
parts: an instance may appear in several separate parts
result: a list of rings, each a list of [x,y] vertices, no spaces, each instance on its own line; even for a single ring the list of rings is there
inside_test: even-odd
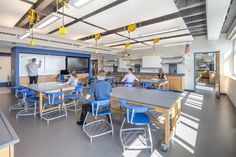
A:
[[[19,54],[19,74],[20,76],[29,76],[28,64],[32,62],[32,58],[36,58],[36,64],[39,64],[41,60],[41,67],[38,69],[39,75],[44,75],[45,64],[44,64],[44,55],[37,54]]]

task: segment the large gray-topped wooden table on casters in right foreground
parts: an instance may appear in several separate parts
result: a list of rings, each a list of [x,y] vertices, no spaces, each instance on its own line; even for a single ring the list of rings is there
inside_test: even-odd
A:
[[[153,89],[135,88],[135,87],[116,87],[112,89],[111,110],[116,113],[124,114],[119,103],[114,103],[120,99],[126,100],[130,104],[145,105],[153,108],[155,111],[165,115],[164,143],[170,144],[171,131],[176,127],[176,122],[180,117],[181,93],[172,91],[158,91]],[[118,105],[117,105],[118,104]],[[171,118],[169,113],[171,112]],[[172,124],[170,126],[170,119]],[[152,119],[153,123],[158,123]],[[158,123],[159,124],[159,123]]]

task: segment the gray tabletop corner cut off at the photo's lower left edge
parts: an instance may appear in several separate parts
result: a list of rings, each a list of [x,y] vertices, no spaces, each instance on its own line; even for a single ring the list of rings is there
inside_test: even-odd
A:
[[[15,130],[0,111],[0,149],[19,143],[20,139]]]

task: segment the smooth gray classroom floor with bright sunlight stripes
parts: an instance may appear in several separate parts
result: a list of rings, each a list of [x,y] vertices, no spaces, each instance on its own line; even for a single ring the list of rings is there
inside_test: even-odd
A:
[[[160,150],[163,129],[152,127],[154,152],[129,150],[122,154],[119,127],[122,117],[113,114],[115,136],[106,135],[93,143],[76,125],[79,113],[69,113],[67,119],[51,122],[49,126],[39,118],[20,117],[8,112],[16,100],[11,94],[0,94],[0,109],[20,137],[15,147],[16,157],[235,157],[236,109],[227,96],[216,99],[207,91],[185,93],[182,116],[172,137],[168,152]]]

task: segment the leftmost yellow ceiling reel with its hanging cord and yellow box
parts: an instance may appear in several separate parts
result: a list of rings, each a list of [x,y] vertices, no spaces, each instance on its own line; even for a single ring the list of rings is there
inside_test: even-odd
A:
[[[38,23],[40,21],[40,17],[38,15],[38,13],[36,12],[36,10],[34,9],[30,9],[29,13],[28,13],[28,20],[29,20],[29,29],[31,29],[31,40],[29,41],[29,45],[31,46],[35,46],[36,45],[36,40],[34,39],[34,29],[33,29],[33,25],[35,25],[36,23]]]

